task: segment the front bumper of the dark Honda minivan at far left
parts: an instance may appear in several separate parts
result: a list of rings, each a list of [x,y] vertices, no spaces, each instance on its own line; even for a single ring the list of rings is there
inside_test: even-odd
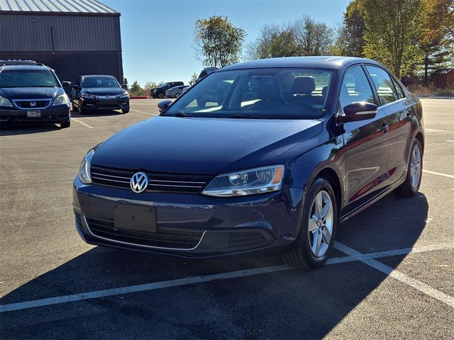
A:
[[[27,111],[32,110],[0,109],[0,123],[66,123],[70,120],[70,108],[67,105],[33,110],[40,111],[40,117],[29,118]]]

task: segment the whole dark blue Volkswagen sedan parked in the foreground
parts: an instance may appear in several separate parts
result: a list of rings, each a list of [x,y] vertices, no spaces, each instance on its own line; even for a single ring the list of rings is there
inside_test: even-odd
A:
[[[89,150],[74,212],[90,244],[326,261],[338,222],[421,183],[421,103],[350,57],[234,64]]]

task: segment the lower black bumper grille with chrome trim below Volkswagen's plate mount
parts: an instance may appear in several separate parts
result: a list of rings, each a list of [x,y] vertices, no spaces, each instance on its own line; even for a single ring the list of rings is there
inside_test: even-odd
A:
[[[200,230],[180,230],[160,228],[157,232],[142,232],[116,228],[113,221],[85,217],[89,231],[96,237],[114,242],[150,246],[165,249],[193,249],[199,244],[204,232]]]

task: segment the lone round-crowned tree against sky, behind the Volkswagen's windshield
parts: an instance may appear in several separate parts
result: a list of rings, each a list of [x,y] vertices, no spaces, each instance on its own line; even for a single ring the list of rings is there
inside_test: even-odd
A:
[[[232,25],[226,16],[199,19],[195,24],[194,50],[206,67],[224,67],[238,62],[245,31]]]

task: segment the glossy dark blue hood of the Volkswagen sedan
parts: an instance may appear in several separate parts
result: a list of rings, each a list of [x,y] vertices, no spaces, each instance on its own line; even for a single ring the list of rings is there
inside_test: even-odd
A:
[[[180,174],[222,174],[272,164],[321,132],[319,120],[158,116],[97,147],[92,164]]]

